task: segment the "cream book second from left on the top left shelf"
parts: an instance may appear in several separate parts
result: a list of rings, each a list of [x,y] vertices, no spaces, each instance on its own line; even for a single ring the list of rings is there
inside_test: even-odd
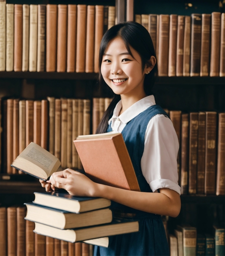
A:
[[[6,4],[6,71],[13,71],[14,4]]]

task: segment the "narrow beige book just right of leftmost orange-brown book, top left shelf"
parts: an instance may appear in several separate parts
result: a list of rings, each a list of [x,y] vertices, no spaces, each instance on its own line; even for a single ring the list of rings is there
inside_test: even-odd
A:
[[[30,6],[23,4],[23,54],[22,71],[28,71],[29,67],[29,26],[30,26]]]

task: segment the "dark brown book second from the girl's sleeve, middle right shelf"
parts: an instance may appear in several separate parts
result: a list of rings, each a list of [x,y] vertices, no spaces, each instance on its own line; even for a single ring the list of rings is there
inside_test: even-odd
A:
[[[180,159],[180,188],[181,194],[188,193],[188,139],[189,139],[189,114],[181,115],[181,159]]]

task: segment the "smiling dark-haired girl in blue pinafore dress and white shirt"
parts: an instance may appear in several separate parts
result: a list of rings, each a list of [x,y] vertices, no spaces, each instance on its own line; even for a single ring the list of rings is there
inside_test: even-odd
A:
[[[148,31],[135,22],[109,29],[101,41],[99,69],[100,85],[108,86],[114,98],[96,133],[122,133],[141,192],[97,184],[71,169],[54,173],[42,186],[108,198],[117,212],[139,220],[139,232],[111,237],[109,248],[95,246],[95,255],[169,255],[160,215],[180,212],[179,145],[171,120],[151,92],[158,68]]]

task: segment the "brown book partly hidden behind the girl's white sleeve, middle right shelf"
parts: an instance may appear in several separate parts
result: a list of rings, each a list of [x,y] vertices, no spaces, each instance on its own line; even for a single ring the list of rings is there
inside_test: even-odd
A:
[[[181,111],[170,111],[170,119],[173,123],[173,127],[176,131],[176,135],[180,145]],[[178,172],[178,184],[180,185],[180,149],[178,150],[178,154],[177,154],[177,172]]]

